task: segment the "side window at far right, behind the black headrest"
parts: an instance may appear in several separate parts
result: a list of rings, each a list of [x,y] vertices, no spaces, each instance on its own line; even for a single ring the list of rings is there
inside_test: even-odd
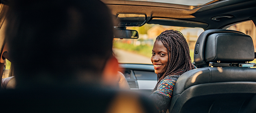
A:
[[[252,37],[254,43],[254,52],[256,52],[256,28],[253,21],[245,21],[242,23],[238,23],[236,25],[232,25],[227,29],[241,31]],[[252,61],[252,63],[256,63],[256,60]]]

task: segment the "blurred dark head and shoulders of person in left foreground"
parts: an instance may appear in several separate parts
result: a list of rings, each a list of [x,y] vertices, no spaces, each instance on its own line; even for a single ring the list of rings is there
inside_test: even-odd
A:
[[[9,7],[6,38],[17,89],[1,93],[4,109],[156,113],[148,98],[97,86],[111,83],[118,70],[111,13],[104,3],[10,0]]]

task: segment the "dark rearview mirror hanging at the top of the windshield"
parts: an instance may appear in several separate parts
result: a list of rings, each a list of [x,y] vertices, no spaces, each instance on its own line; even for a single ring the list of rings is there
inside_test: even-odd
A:
[[[129,29],[114,29],[114,38],[137,39],[139,38],[139,33]]]

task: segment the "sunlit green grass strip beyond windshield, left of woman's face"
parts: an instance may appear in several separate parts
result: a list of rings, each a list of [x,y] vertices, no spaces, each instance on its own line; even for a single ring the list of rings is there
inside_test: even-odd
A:
[[[118,48],[122,50],[127,50],[130,52],[134,52],[136,54],[141,54],[145,57],[151,57],[152,56],[152,48],[153,46],[148,45],[139,45],[135,46],[134,44],[127,44],[127,43],[114,43],[113,48]]]

